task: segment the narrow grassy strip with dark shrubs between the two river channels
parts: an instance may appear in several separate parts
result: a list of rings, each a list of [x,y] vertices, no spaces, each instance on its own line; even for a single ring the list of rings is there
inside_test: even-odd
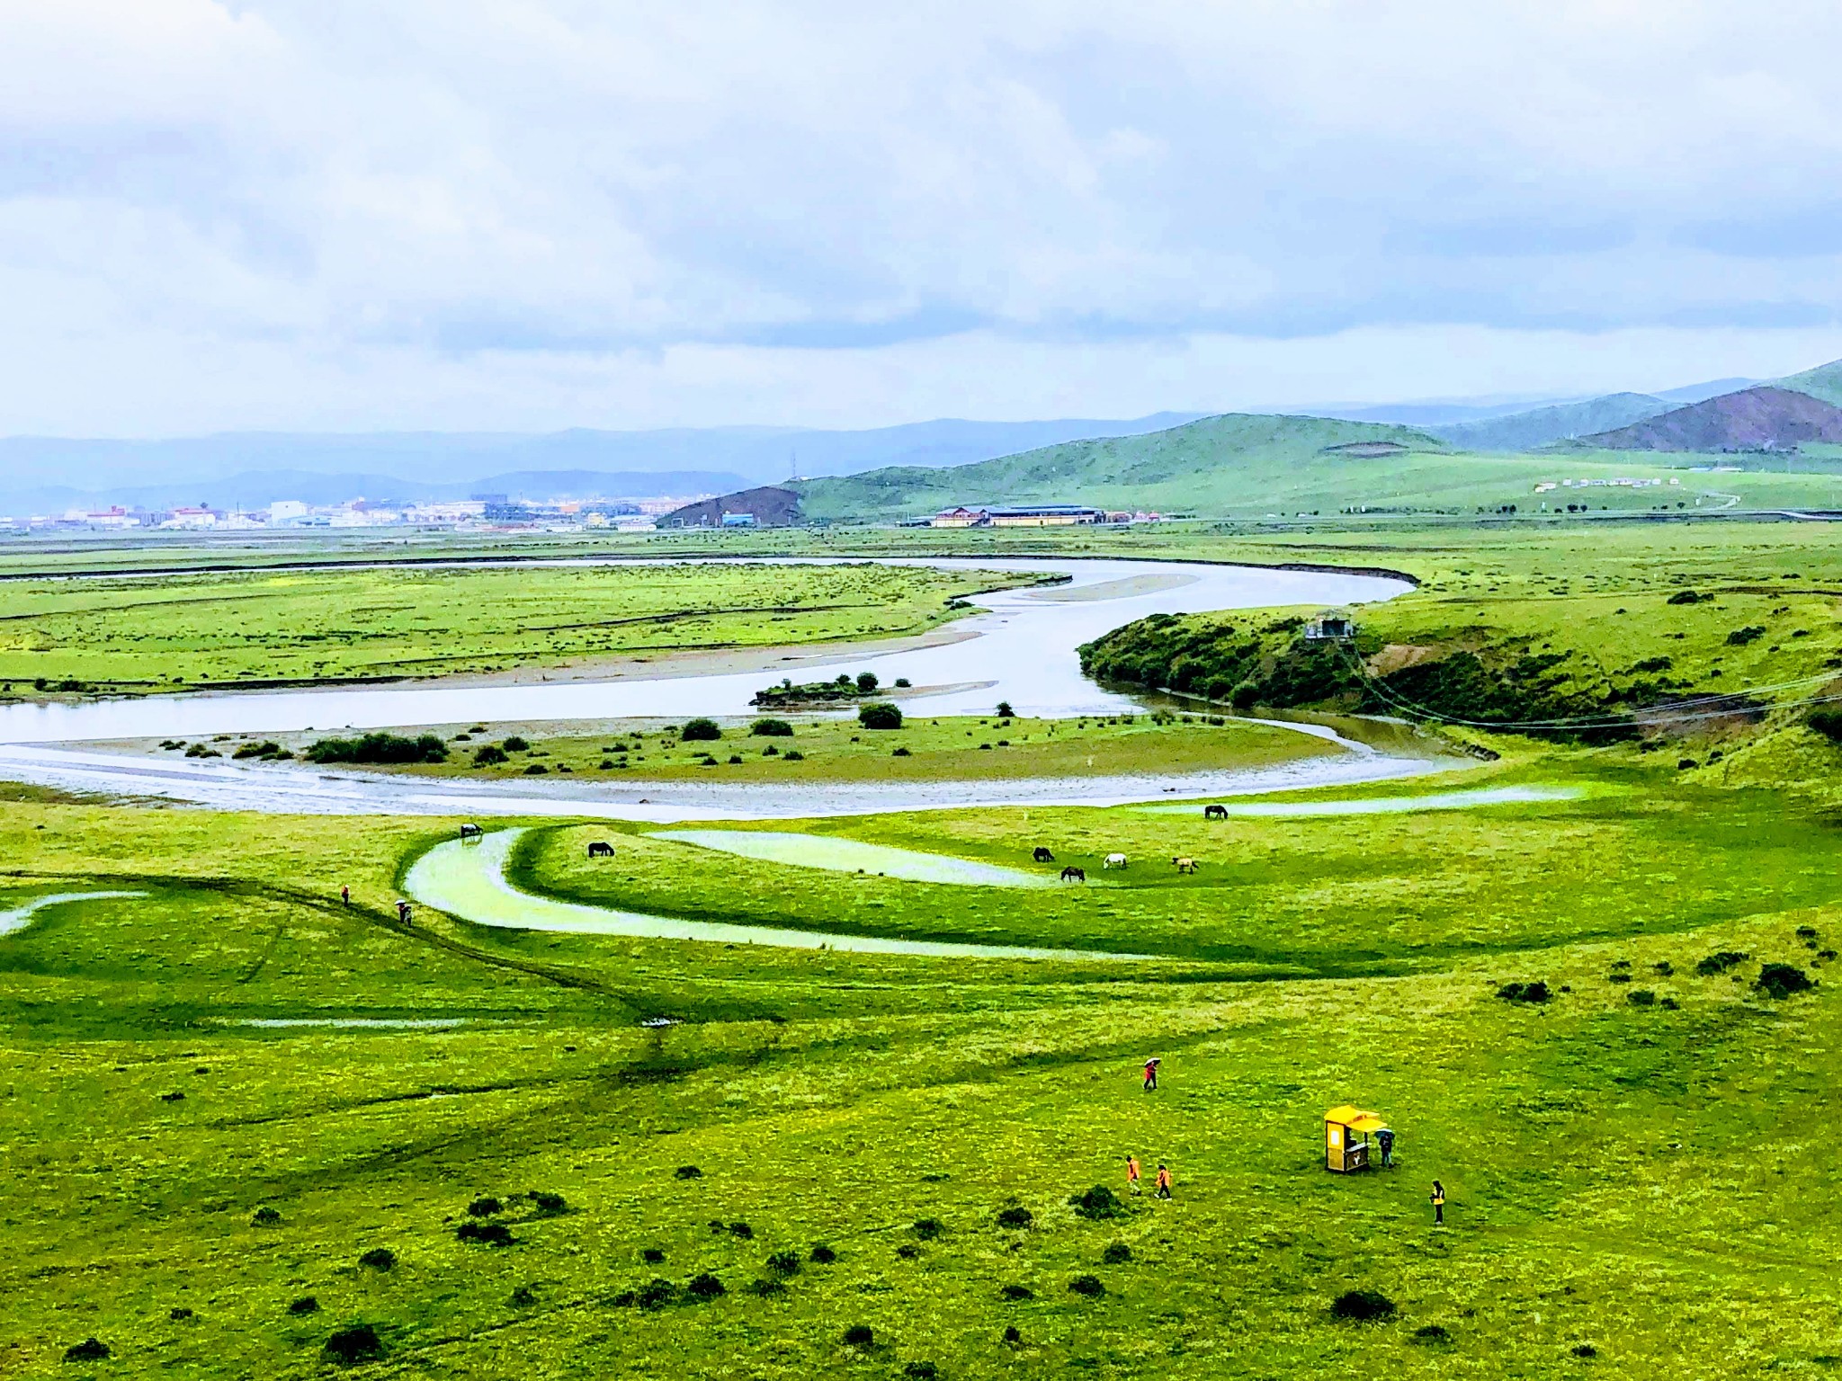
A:
[[[516,731],[494,725],[484,735],[448,740],[446,762],[379,768],[427,777],[523,777],[610,772],[645,781],[814,783],[814,781],[969,781],[1017,777],[1089,777],[1149,772],[1221,772],[1262,768],[1334,753],[1319,738],[1216,716],[1216,724],[1162,714],[1089,720],[925,718],[912,703],[901,729],[864,729],[855,718],[787,716],[790,737],[750,733],[753,720],[733,720],[720,740],[680,742],[659,725],[610,724],[591,735]],[[676,725],[672,725],[676,727]],[[245,735],[212,744],[228,753]],[[507,760],[479,766],[473,753],[518,738],[529,748]],[[278,735],[297,753],[315,735]],[[897,757],[897,749],[908,749]],[[798,759],[788,760],[790,753]],[[715,764],[709,762],[715,759]],[[740,759],[731,762],[729,759]],[[532,772],[543,768],[543,772]]]

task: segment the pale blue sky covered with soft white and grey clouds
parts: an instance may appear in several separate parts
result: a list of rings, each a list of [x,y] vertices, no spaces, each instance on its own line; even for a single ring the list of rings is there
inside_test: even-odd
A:
[[[0,0],[0,435],[1140,416],[1842,357],[1842,7]]]

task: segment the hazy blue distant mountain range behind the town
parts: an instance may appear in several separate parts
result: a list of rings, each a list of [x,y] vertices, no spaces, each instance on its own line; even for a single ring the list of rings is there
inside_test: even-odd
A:
[[[109,503],[262,506],[278,499],[527,499],[705,493],[790,473],[958,466],[1078,436],[1129,436],[1194,420],[917,422],[869,431],[234,433],[177,440],[0,438],[0,514]]]

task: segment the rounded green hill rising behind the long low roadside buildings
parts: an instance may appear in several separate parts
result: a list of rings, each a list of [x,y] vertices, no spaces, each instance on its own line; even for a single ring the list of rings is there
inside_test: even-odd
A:
[[[1413,427],[1229,412],[1144,436],[1063,442],[950,470],[895,468],[807,481],[799,499],[807,519],[820,521],[917,517],[952,505],[1008,503],[1214,514],[1306,499],[1321,505],[1365,473],[1387,473],[1409,458],[1444,462],[1444,449]]]

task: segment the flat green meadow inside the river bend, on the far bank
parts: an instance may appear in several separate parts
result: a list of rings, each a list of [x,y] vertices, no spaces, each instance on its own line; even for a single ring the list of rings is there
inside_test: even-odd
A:
[[[0,582],[0,694],[324,685],[921,633],[1035,576],[530,565]]]

